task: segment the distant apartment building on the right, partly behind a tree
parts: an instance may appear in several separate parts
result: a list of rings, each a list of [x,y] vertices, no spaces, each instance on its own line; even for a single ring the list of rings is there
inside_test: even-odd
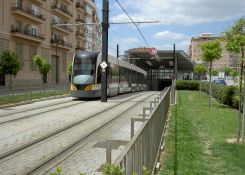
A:
[[[202,33],[191,38],[191,45],[189,46],[188,54],[191,59],[196,63],[202,63],[201,49],[198,46],[200,43],[210,40],[220,39],[218,36],[213,36],[211,33]],[[237,67],[237,55],[227,52],[225,43],[221,42],[223,52],[219,60],[213,62],[213,68],[219,69],[223,67]]]

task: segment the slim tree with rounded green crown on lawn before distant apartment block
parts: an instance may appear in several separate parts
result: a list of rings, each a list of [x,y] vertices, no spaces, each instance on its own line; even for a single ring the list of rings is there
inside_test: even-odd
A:
[[[199,45],[201,48],[201,57],[203,61],[209,62],[209,109],[212,108],[212,87],[211,87],[211,72],[212,72],[212,62],[221,57],[222,48],[219,40],[212,40],[208,42],[201,43]]]

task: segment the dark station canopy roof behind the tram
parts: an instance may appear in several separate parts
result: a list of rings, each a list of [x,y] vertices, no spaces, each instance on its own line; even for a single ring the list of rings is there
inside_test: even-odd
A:
[[[193,72],[194,62],[183,50],[176,50],[178,72]],[[174,68],[173,50],[137,48],[127,51],[129,61],[143,69]]]

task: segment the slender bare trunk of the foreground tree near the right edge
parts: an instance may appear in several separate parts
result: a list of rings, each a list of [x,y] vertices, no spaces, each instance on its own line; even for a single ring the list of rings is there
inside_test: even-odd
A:
[[[241,60],[240,65],[240,79],[239,79],[239,106],[238,106],[238,119],[237,119],[237,143],[239,143],[240,137],[241,137],[241,111],[242,111],[242,79],[243,79],[243,60]]]

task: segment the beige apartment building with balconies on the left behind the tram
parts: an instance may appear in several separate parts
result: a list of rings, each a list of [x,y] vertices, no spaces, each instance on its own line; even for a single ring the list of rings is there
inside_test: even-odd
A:
[[[67,66],[75,52],[101,50],[94,0],[0,0],[0,51],[7,49],[21,58],[15,86],[40,85],[32,62],[36,54],[52,65],[48,83],[67,83]],[[8,77],[2,76],[0,86],[7,85]]]

